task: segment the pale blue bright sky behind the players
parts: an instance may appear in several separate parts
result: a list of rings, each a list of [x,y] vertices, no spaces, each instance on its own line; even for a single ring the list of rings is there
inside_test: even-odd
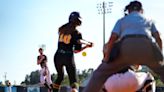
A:
[[[113,2],[111,13],[105,15],[105,42],[115,22],[124,16],[123,9],[132,0],[0,0],[0,81],[13,84],[24,81],[26,74],[40,69],[36,64],[38,48],[45,44],[51,74],[56,73],[53,58],[57,49],[58,28],[68,22],[72,11],[81,15],[78,30],[83,38],[94,43],[92,48],[75,54],[78,70],[96,69],[103,54],[103,16],[97,4]],[[140,0],[144,16],[152,19],[164,38],[163,0]],[[109,8],[109,7],[108,7]]]

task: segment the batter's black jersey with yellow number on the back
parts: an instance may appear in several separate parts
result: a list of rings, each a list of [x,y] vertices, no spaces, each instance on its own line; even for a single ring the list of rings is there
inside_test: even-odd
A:
[[[73,30],[68,26],[69,25],[62,26],[62,29],[66,31]],[[81,44],[78,42],[80,39],[82,39],[82,35],[75,29],[71,33],[59,33],[58,49],[62,49],[64,51],[73,51],[74,49],[80,50]]]

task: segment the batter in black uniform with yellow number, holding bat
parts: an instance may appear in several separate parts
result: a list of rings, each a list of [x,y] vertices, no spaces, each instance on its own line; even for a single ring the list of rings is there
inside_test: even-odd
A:
[[[78,91],[74,53],[92,47],[92,43],[82,46],[82,34],[76,29],[80,25],[80,14],[74,11],[69,16],[69,22],[59,28],[58,49],[54,56],[57,79],[53,84],[53,92],[58,92],[60,89],[61,82],[64,79],[64,66],[69,76],[71,92]]]

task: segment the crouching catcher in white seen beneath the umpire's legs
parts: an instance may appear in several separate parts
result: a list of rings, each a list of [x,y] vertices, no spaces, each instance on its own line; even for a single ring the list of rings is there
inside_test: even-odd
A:
[[[156,83],[141,65],[132,65],[109,77],[101,92],[155,92]]]

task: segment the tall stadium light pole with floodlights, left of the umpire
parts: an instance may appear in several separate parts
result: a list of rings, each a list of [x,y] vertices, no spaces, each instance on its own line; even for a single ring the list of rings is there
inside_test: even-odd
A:
[[[103,45],[105,44],[105,14],[111,13],[113,2],[102,2],[97,4],[99,14],[103,14]]]

